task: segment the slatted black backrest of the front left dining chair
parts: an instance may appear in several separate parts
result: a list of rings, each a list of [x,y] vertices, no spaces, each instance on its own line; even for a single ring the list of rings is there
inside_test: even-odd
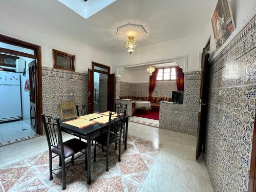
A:
[[[59,117],[54,119],[51,116],[45,116],[45,114],[42,114],[41,117],[42,122],[44,123],[44,129],[46,132],[49,151],[52,150],[52,147],[56,147],[59,150],[61,150],[61,154],[64,154]]]

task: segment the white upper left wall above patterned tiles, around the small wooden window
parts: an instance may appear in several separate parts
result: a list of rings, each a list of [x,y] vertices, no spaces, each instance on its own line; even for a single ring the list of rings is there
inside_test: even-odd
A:
[[[88,68],[91,68],[91,61],[111,65],[109,54],[73,40],[69,36],[63,36],[53,31],[50,26],[42,26],[39,20],[38,23],[33,23],[31,15],[18,7],[12,11],[0,7],[0,17],[0,34],[41,46],[44,67],[52,68],[52,49],[75,55],[76,72],[87,72]]]

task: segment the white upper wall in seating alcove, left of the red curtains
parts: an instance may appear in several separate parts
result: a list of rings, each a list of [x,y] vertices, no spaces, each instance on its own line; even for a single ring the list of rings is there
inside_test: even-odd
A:
[[[146,69],[140,69],[140,70],[125,69],[120,76],[120,81],[134,82],[134,83],[149,82],[150,74],[146,71]]]

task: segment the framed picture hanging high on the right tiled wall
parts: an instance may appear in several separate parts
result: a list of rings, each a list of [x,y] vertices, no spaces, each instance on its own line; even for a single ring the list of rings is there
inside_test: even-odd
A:
[[[219,0],[211,18],[216,48],[219,49],[234,31],[234,21],[227,0]]]

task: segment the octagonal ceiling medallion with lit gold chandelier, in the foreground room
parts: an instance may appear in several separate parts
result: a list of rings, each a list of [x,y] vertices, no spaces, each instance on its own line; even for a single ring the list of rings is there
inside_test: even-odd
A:
[[[146,35],[146,30],[142,25],[136,25],[136,24],[125,24],[123,26],[120,26],[116,30],[116,34],[120,37],[120,39],[126,41],[126,49],[127,51],[132,54],[134,52],[134,49],[136,48],[136,40],[142,39]]]

